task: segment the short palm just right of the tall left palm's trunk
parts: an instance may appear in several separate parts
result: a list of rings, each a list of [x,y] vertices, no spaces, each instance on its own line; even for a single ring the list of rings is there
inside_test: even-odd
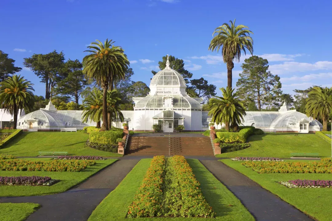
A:
[[[117,119],[121,122],[124,121],[124,115],[121,113],[120,104],[124,104],[122,100],[122,95],[117,90],[112,90],[107,92],[107,114],[110,115],[108,121],[108,127],[111,129],[112,120]]]

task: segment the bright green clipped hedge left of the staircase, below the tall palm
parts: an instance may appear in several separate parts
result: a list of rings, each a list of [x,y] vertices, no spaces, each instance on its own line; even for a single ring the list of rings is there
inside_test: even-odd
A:
[[[123,138],[123,132],[120,131],[103,131],[103,132],[91,132],[89,141],[91,143],[115,145],[117,139]]]

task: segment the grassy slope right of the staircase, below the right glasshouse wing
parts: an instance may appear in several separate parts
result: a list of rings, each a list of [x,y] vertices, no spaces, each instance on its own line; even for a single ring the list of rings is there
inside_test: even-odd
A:
[[[294,136],[297,135],[297,136]],[[216,157],[280,157],[289,158],[290,153],[319,153],[320,156],[331,155],[331,145],[315,134],[264,134],[250,136],[251,146]]]

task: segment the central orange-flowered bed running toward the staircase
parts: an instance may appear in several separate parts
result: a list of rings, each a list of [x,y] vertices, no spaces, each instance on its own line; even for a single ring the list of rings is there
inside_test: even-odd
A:
[[[155,156],[129,206],[134,217],[215,217],[184,156]]]

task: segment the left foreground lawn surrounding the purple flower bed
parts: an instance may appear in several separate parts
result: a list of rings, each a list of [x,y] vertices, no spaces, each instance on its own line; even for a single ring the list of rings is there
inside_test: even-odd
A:
[[[28,159],[28,158],[27,158]],[[36,159],[29,160],[51,160]],[[114,163],[117,159],[96,160],[97,164],[89,166],[81,172],[44,172],[44,171],[0,171],[0,176],[48,176],[60,182],[52,186],[0,186],[1,196],[31,196],[64,192],[81,183],[99,170]],[[1,219],[0,219],[1,220]]]

